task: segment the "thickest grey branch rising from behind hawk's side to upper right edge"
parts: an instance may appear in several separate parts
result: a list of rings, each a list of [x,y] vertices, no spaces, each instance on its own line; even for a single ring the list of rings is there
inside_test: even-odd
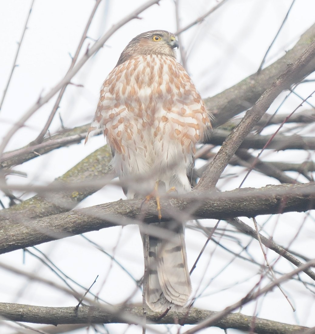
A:
[[[300,40],[291,50],[286,52],[282,58],[264,68],[259,74],[254,73],[235,86],[212,98],[206,99],[207,107],[214,112],[216,118],[213,124],[214,127],[218,127],[233,116],[251,108],[272,85],[273,81],[287,70],[289,64],[294,63],[300,57],[314,39],[315,24],[301,36]],[[312,73],[314,70],[315,58],[301,69],[299,76],[288,81],[288,85],[284,89],[289,89],[291,85],[298,83],[301,78]]]

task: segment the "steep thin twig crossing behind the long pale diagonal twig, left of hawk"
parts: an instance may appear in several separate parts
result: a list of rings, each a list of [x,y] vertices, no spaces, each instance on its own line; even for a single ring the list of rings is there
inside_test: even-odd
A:
[[[66,74],[68,74],[68,73],[71,71],[71,69],[72,69],[72,68],[74,67],[74,65],[75,65],[75,62],[76,62],[77,59],[78,59],[78,56],[79,56],[79,53],[80,53],[80,51],[81,51],[82,45],[83,45],[83,43],[84,43],[84,41],[85,41],[85,39],[86,39],[86,37],[87,37],[87,31],[88,31],[88,29],[89,29],[89,27],[90,27],[90,24],[91,24],[91,22],[92,22],[92,19],[93,19],[94,15],[95,15],[96,9],[97,9],[97,7],[98,7],[98,5],[100,4],[101,1],[102,1],[102,0],[96,0],[96,2],[95,2],[95,5],[94,5],[94,7],[93,7],[93,9],[92,9],[92,12],[91,12],[91,14],[90,14],[90,17],[89,17],[89,19],[88,19],[88,21],[87,21],[87,24],[86,24],[86,26],[85,26],[85,29],[84,29],[84,31],[83,31],[83,34],[82,34],[81,40],[80,40],[80,42],[79,42],[79,45],[78,45],[78,47],[77,47],[77,49],[76,49],[76,51],[75,51],[75,54],[74,54],[74,56],[73,56],[73,58],[72,58],[70,67],[69,67],[69,69],[68,69],[68,71],[67,71]],[[54,104],[54,107],[52,108],[52,111],[51,111],[51,113],[50,113],[50,115],[49,115],[49,117],[48,117],[48,120],[47,120],[47,122],[46,122],[44,128],[42,129],[42,131],[41,131],[40,134],[38,135],[38,137],[34,140],[34,143],[38,144],[38,143],[41,143],[41,142],[42,142],[42,140],[43,140],[43,138],[44,138],[44,136],[45,136],[45,134],[46,134],[46,132],[47,132],[49,126],[50,126],[50,123],[52,122],[52,120],[53,120],[53,118],[54,118],[54,116],[55,116],[55,113],[57,112],[57,110],[58,110],[58,108],[59,108],[60,101],[61,101],[61,99],[62,99],[62,96],[63,96],[63,94],[64,94],[64,92],[65,92],[65,90],[66,90],[68,84],[69,84],[69,82],[67,82],[67,83],[61,88],[61,91],[59,92],[59,95],[58,95],[57,100],[56,100],[56,102],[55,102],[55,104]]]

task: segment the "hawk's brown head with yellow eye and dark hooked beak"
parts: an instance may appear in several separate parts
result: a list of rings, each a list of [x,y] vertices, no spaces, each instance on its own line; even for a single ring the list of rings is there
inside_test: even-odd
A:
[[[122,51],[117,65],[135,56],[164,54],[176,58],[174,48],[178,48],[174,34],[165,30],[151,30],[134,37]]]

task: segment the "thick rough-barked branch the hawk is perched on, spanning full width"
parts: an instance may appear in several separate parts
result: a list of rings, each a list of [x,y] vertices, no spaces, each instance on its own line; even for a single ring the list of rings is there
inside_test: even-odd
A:
[[[119,200],[36,220],[23,221],[0,212],[0,254],[101,228],[158,221],[155,202],[145,210],[141,199]],[[192,192],[163,201],[162,220],[186,218],[228,219],[239,216],[307,211],[315,208],[314,183],[244,188],[222,193]],[[159,230],[160,233],[160,230]]]

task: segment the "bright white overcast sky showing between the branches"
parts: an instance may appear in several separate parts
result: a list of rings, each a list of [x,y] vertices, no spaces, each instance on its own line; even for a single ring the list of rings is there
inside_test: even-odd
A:
[[[180,0],[179,2],[181,27],[203,15],[217,4],[215,0]],[[28,0],[0,2],[0,45],[2,50],[0,56],[0,92],[3,92],[5,88],[17,49],[17,41],[20,39],[30,3],[31,1]],[[93,44],[93,39],[99,38],[114,23],[142,3],[144,1],[103,0],[88,32],[91,39],[85,41],[82,52],[88,45]],[[291,0],[229,0],[201,24],[181,35],[182,45],[180,47],[187,52],[188,71],[203,97],[207,98],[220,93],[258,69],[290,5]],[[93,6],[93,0],[35,0],[28,29],[18,56],[18,67],[14,71],[0,111],[0,140],[6,135],[14,122],[17,122],[27,109],[37,101],[38,97],[49,92],[65,75],[71,61],[69,53],[74,54]],[[314,23],[314,13],[314,1],[297,0],[295,2],[283,30],[267,56],[267,64],[275,61],[284,54],[285,50],[294,45],[300,35]],[[175,6],[172,0],[162,0],[160,5],[152,6],[141,13],[140,17],[141,19],[134,19],[115,32],[105,46],[89,59],[72,79],[73,83],[83,85],[83,87],[70,85],[66,89],[59,109],[65,127],[72,128],[83,125],[93,118],[99,88],[103,80],[116,64],[125,45],[135,35],[152,29],[177,31]],[[312,91],[314,91],[312,84],[303,85],[300,94],[306,97]],[[6,150],[24,146],[36,138],[51,112],[55,98],[40,108],[27,121],[26,126],[11,138]],[[298,98],[292,98],[285,105],[283,111],[291,111],[299,103]],[[56,115],[50,127],[50,132],[55,133],[59,129],[59,116]],[[86,146],[81,143],[29,161],[16,167],[17,170],[27,172],[28,177],[26,179],[11,177],[9,182],[51,182],[103,144],[104,139],[99,136]],[[282,154],[273,155],[272,159],[276,160],[277,157],[281,159]],[[290,159],[292,156],[288,158]],[[231,168],[230,171],[233,172],[234,169]],[[257,178],[257,175],[258,173],[253,173],[253,177],[249,179],[245,186],[262,186],[266,182],[270,183],[269,178],[261,177],[260,174]],[[220,182],[221,189],[233,189],[238,187],[240,180],[236,179],[235,182],[230,180],[228,184],[225,184],[224,180]],[[82,206],[112,201],[122,196],[120,190],[110,186],[90,196]],[[4,203],[7,203],[4,197],[1,199]],[[301,216],[290,213],[283,215],[283,217],[286,221],[285,227],[282,221],[277,225],[277,229],[284,228],[282,240],[283,242],[289,242],[288,240],[292,238],[296,231],[296,224],[302,223]],[[269,230],[273,230],[275,220],[276,218],[268,223]],[[245,221],[249,222],[249,220]],[[136,279],[139,279],[142,271],[142,245],[136,226],[126,227],[123,230],[121,228],[105,229],[89,233],[88,236],[101,243],[104,248],[111,252],[117,244],[120,233],[121,239],[116,251],[117,258],[135,275]],[[303,247],[306,247],[306,249],[309,247],[308,256],[311,253],[315,256],[313,249],[314,229],[310,229],[310,225],[307,225],[305,230],[301,230],[301,233],[303,238],[301,238],[301,241],[297,241],[294,246],[300,251]],[[187,243],[188,257],[191,264],[205,240],[206,238],[201,236],[199,232],[189,230]],[[110,268],[110,262],[80,236],[40,245],[39,248],[45,250],[58,267],[63,268],[72,278],[80,281],[84,286],[89,286],[96,275],[100,275],[99,284],[94,287],[94,292],[101,290],[101,295],[108,301],[113,303],[122,301],[134,289],[132,281],[116,267],[110,273],[104,288],[101,288],[107,270]],[[132,252],[130,252],[130,249],[132,249]],[[214,249],[214,244],[209,246],[209,253],[207,253],[209,256],[204,257],[199,265],[202,269],[199,273],[193,274],[192,280],[195,286],[198,285],[204,268],[206,268],[206,277],[209,276],[210,278],[214,276],[214,270],[219,272],[220,268],[229,262],[227,253],[221,249],[216,249],[214,256],[211,257],[210,255],[214,252]],[[313,252],[310,251],[311,249],[313,249]],[[275,257],[274,254],[269,253],[271,258]],[[257,258],[260,259],[261,263],[264,263],[259,251],[257,252]],[[208,266],[209,259],[211,259],[211,263]],[[36,272],[38,270],[38,273],[42,276],[54,277],[30,256],[26,256],[26,263],[22,265],[22,251],[1,255],[1,261],[14,264],[26,271]],[[102,261],[104,261],[104,266],[101,265]],[[210,288],[206,290],[204,297],[198,300],[196,306],[210,310],[221,310],[242,298],[244,291],[247,291],[249,287],[257,282],[257,276],[254,275],[258,272],[258,267],[244,264],[241,260],[236,262],[240,266],[235,265],[234,267],[234,270],[237,270],[239,282],[243,278],[246,281],[240,283],[235,289],[231,288],[223,291],[222,287],[229,287],[231,283],[229,282],[230,275],[221,275],[219,279],[215,279],[211,283]],[[291,270],[291,267],[288,267],[285,261],[282,261],[282,265],[282,270]],[[46,287],[36,284],[24,286],[26,284],[24,279],[21,280],[7,272],[3,272],[3,282],[4,284],[0,288],[0,301],[2,302],[19,302],[43,306],[74,305],[73,299],[64,298],[63,294],[57,294],[54,290],[48,290]],[[203,284],[205,285],[205,283]],[[15,297],[18,291],[17,286],[23,287],[20,297]],[[259,316],[276,321],[314,326],[314,318],[310,316],[311,312],[315,312],[312,297],[306,295],[301,286],[292,283],[287,283],[284,286],[296,302],[296,313],[292,313],[284,297],[279,291],[275,290],[273,298],[259,302]],[[296,289],[301,289],[301,291],[295,291]],[[207,298],[208,294],[212,294],[212,296]],[[135,301],[140,301],[140,294],[136,295]],[[243,312],[252,315],[254,307],[254,304],[245,306]],[[164,330],[163,327],[160,329]],[[117,330],[117,333],[123,332],[123,329],[120,330],[119,327],[115,327],[115,330]],[[138,329],[134,327],[129,329],[129,333],[138,332]],[[212,328],[207,333],[209,332],[222,333],[222,330]],[[228,331],[228,333],[234,332],[236,331]]]

